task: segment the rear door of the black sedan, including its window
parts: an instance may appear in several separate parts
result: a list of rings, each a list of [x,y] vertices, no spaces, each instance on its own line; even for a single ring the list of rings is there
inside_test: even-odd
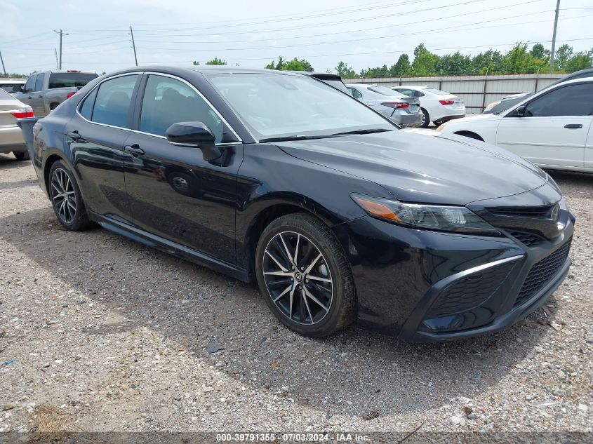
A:
[[[88,209],[130,220],[124,182],[124,144],[130,135],[140,74],[121,74],[88,93],[65,127],[74,168]]]

